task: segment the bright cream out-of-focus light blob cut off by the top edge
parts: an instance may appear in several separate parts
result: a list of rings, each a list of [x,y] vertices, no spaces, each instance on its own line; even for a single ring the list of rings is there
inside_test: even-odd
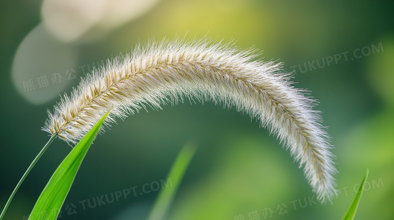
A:
[[[44,0],[42,19],[48,30],[64,42],[94,42],[145,14],[159,0]]]

